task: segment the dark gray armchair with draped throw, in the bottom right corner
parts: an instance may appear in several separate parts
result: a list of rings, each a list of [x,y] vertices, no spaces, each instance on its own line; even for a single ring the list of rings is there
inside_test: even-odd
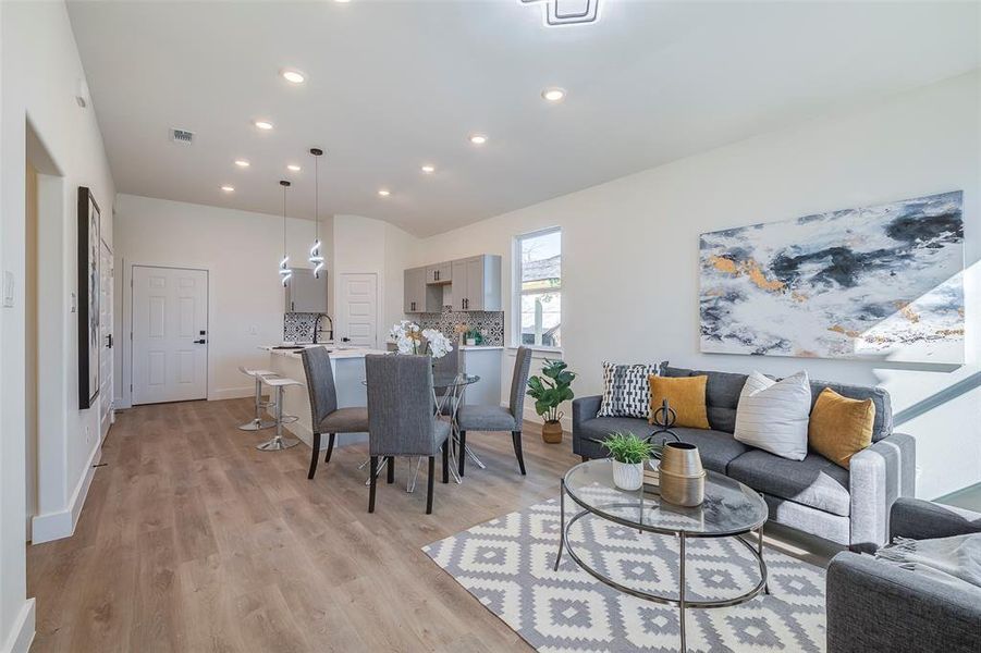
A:
[[[981,515],[915,498],[893,504],[890,535],[924,540],[981,532]],[[827,652],[981,651],[981,590],[957,588],[850,552],[827,567]]]

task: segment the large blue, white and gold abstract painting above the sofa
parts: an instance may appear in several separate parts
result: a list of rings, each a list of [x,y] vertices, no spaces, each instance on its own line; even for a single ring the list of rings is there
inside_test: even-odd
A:
[[[701,350],[964,362],[960,190],[706,233]]]

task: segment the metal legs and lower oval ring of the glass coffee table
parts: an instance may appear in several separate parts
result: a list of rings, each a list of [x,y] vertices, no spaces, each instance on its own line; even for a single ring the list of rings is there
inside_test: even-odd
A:
[[[727,534],[690,534],[685,531],[675,532],[675,537],[678,538],[678,596],[675,599],[674,596],[664,596],[661,594],[653,594],[651,592],[645,592],[642,590],[638,590],[635,588],[629,588],[622,583],[616,582],[612,578],[604,576],[603,574],[597,571],[592,567],[590,567],[583,558],[580,558],[575,549],[572,545],[572,541],[568,538],[568,531],[573,527],[573,525],[578,521],[585,515],[592,515],[599,519],[606,519],[608,521],[613,521],[615,523],[620,523],[621,526],[637,528],[636,523],[631,523],[627,520],[613,519],[612,517],[605,515],[598,515],[590,510],[580,510],[575,514],[568,521],[565,520],[565,480],[562,480],[562,489],[559,498],[560,506],[560,515],[562,519],[562,527],[559,535],[559,553],[555,555],[555,566],[554,570],[559,570],[559,564],[562,562],[562,551],[563,549],[568,552],[571,558],[573,558],[579,567],[587,571],[590,576],[596,578],[597,580],[603,582],[604,584],[610,586],[611,588],[618,590],[621,592],[627,593],[631,596],[636,596],[637,599],[643,599],[645,601],[652,601],[654,603],[663,603],[667,605],[677,605],[678,606],[678,627],[682,633],[682,651],[686,651],[686,641],[685,641],[685,609],[688,607],[728,607],[732,605],[738,605],[739,603],[745,603],[758,594],[765,593],[769,594],[770,590],[767,586],[767,563],[763,562],[763,527],[756,529],[758,533],[758,540],[756,543],[749,542],[745,540],[741,535],[746,533],[750,533],[752,531],[744,531],[744,533],[727,533]],[[636,504],[633,503],[612,503],[605,504],[603,508],[630,508],[635,507]],[[654,532],[654,531],[651,531]],[[654,534],[667,534],[667,533],[658,533]],[[699,600],[699,601],[690,601],[685,599],[685,541],[688,538],[734,538],[737,542],[741,543],[746,546],[750,553],[753,554],[753,557],[757,558],[757,562],[760,565],[760,582],[757,583],[755,588],[746,592],[745,594],[740,594],[738,596],[734,596],[732,599],[715,599],[715,600]]]

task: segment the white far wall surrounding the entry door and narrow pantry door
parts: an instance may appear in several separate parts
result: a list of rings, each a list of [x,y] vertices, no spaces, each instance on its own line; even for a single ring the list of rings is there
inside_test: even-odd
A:
[[[387,287],[387,243],[412,238],[397,227],[357,215],[321,219],[320,236],[331,274],[330,305],[343,272],[379,275],[379,318],[387,292],[402,297],[402,259],[398,287]],[[250,396],[254,384],[240,365],[267,366],[260,345],[283,338],[283,286],[275,273],[283,256],[281,215],[120,194],[117,198],[115,257],[124,285],[117,297],[117,332],[124,343],[121,356],[121,405],[128,405],[130,316],[128,275],[134,264],[199,268],[209,271],[208,398]],[[308,267],[314,223],[290,218],[286,242],[291,264]],[[379,324],[384,333],[384,322]]]

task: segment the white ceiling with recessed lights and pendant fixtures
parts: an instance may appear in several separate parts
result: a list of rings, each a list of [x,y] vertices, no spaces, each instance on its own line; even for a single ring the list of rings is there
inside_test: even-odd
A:
[[[285,176],[290,214],[311,217],[320,146],[322,214],[417,235],[981,65],[976,2],[600,1],[598,23],[561,28],[518,0],[69,11],[119,192],[279,213]],[[551,85],[564,102],[540,98]]]

